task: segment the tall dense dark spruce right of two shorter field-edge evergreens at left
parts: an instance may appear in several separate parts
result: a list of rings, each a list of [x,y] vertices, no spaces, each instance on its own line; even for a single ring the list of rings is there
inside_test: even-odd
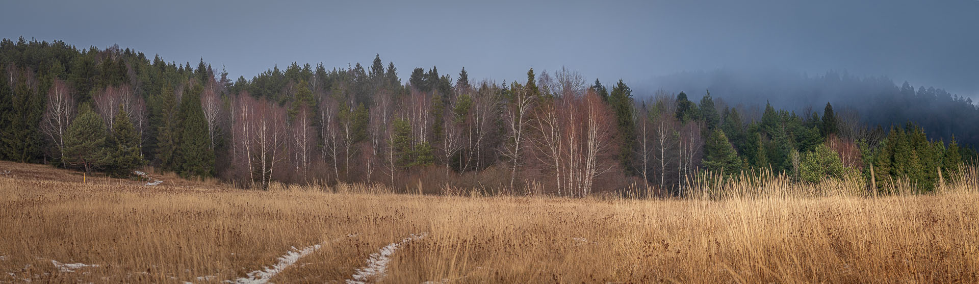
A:
[[[177,172],[183,177],[210,176],[214,170],[214,152],[210,150],[208,122],[201,109],[201,85],[183,95],[180,103],[180,143],[176,159]]]

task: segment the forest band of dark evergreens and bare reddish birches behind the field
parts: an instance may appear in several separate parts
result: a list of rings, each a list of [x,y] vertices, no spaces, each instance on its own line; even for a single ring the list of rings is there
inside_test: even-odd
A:
[[[204,59],[22,37],[0,42],[0,68],[0,159],[117,177],[153,166],[259,189],[533,185],[582,197],[629,187],[672,196],[691,176],[770,171],[880,188],[907,178],[929,191],[979,159],[979,126],[920,108],[952,106],[974,121],[971,100],[880,79],[866,80],[894,90],[866,94],[889,102],[880,107],[841,100],[785,110],[729,105],[717,90],[640,95],[629,82],[566,69],[529,69],[512,82],[465,69],[399,73],[380,55],[366,66],[293,63],[230,78]]]

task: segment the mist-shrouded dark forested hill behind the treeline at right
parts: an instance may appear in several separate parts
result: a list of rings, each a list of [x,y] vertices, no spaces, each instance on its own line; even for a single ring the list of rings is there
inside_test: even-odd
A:
[[[979,145],[979,107],[971,98],[952,94],[939,87],[914,86],[885,76],[859,76],[846,71],[807,74],[796,71],[764,70],[679,72],[637,82],[636,99],[651,97],[657,91],[685,92],[699,100],[707,90],[723,104],[760,118],[768,102],[776,109],[797,114],[816,111],[825,104],[837,113],[858,116],[874,127],[901,126],[914,121],[925,127],[930,137]],[[753,116],[752,112],[758,112]]]

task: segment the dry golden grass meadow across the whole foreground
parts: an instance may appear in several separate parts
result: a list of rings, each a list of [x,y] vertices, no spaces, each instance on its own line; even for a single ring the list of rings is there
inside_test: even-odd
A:
[[[4,170],[0,282],[218,282],[320,243],[271,280],[343,282],[369,255],[422,232],[381,282],[979,282],[974,168],[926,196],[692,200],[253,191],[172,177],[146,187],[81,183],[46,166]],[[51,260],[100,266],[61,272]]]

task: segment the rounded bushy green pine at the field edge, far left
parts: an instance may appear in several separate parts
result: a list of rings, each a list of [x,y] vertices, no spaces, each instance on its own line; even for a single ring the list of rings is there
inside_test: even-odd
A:
[[[107,162],[106,128],[91,107],[83,105],[79,110],[65,135],[65,160],[68,165],[81,166],[91,173]]]

